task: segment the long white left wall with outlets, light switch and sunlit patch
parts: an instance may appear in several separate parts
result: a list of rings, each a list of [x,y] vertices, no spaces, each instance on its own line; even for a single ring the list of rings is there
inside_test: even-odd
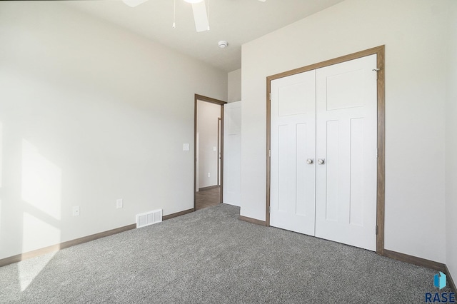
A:
[[[225,72],[59,1],[2,1],[0,41],[0,259],[194,207],[194,93]]]

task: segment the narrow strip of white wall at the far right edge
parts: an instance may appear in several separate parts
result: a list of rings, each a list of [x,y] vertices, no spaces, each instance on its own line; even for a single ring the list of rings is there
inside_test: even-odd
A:
[[[457,282],[457,1],[449,0],[446,104],[446,265]]]

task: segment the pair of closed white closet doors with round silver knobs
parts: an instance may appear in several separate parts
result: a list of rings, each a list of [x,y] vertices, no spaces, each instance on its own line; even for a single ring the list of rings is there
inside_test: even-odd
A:
[[[376,54],[271,81],[270,225],[376,250]]]

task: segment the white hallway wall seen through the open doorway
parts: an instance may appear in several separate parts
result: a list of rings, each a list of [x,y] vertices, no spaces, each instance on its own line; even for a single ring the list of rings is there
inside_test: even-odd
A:
[[[199,133],[199,188],[217,185],[218,119],[221,106],[197,101],[197,132]],[[216,151],[214,151],[216,147]],[[210,176],[208,177],[208,173]]]

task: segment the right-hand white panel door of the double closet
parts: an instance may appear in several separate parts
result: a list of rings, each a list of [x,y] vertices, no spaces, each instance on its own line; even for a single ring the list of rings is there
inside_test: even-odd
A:
[[[376,250],[376,55],[316,70],[316,236]]]

